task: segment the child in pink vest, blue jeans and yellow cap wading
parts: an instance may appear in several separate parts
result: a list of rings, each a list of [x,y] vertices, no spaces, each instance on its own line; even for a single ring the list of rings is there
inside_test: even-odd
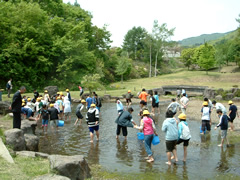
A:
[[[153,120],[149,117],[149,115],[150,115],[149,111],[144,110],[143,118],[141,120],[141,125],[140,126],[135,125],[134,128],[143,130],[145,150],[148,154],[147,162],[153,162],[154,159],[153,159],[153,153],[151,150],[151,144],[152,144],[154,134],[157,136],[157,133],[156,133],[155,124]]]

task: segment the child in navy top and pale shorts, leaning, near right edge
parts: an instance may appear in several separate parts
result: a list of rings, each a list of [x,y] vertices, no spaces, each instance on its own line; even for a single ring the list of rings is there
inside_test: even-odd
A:
[[[221,126],[221,144],[218,146],[222,147],[224,143],[224,139],[227,141],[227,146],[229,146],[229,142],[227,139],[227,130],[228,130],[228,116],[223,114],[222,110],[218,109],[217,114],[220,118],[219,124],[214,128],[215,130]]]

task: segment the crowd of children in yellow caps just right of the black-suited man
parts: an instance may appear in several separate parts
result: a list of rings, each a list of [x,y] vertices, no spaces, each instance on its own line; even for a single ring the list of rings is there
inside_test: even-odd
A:
[[[29,120],[41,120],[42,130],[47,132],[48,121],[50,126],[58,129],[58,120],[71,119],[71,95],[69,89],[66,89],[66,96],[62,92],[57,92],[50,98],[48,91],[44,91],[44,95],[34,90],[34,98],[23,96],[22,114]]]

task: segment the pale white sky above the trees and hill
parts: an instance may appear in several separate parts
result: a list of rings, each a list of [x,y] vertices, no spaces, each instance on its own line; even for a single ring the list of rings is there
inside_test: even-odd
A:
[[[74,3],[75,0],[63,0]],[[121,47],[124,36],[135,27],[152,32],[154,20],[176,28],[171,40],[178,41],[201,34],[225,33],[237,29],[240,0],[77,0],[89,11],[92,23],[108,25],[112,46]]]

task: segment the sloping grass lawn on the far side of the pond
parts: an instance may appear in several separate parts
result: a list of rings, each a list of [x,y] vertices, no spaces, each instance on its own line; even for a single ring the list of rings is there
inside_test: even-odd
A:
[[[166,85],[193,85],[193,86],[208,86],[213,89],[223,88],[224,90],[231,89],[234,85],[240,84],[240,72],[236,73],[219,73],[205,71],[177,71],[176,73],[160,75],[151,78],[132,79],[121,82],[116,82],[110,85],[111,88],[106,87],[105,90],[96,90],[99,96],[104,94],[110,94],[111,96],[121,96],[126,94],[130,89],[132,94],[136,95],[142,90],[142,88],[151,89],[159,88]],[[110,90],[109,90],[110,89]],[[112,89],[112,90],[111,90]],[[61,89],[59,90],[61,91]],[[62,90],[66,95],[66,92]],[[71,96],[74,99],[79,99],[79,91],[70,91]],[[88,92],[85,89],[85,92]],[[39,90],[40,94],[43,94]],[[33,93],[26,93],[26,96],[33,97]],[[7,98],[6,94],[3,94],[3,101],[12,100]]]

